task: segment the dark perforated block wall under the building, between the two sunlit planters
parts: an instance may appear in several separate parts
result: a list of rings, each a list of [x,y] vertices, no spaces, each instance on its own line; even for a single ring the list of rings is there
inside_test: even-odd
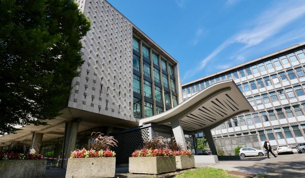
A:
[[[118,141],[117,147],[113,148],[117,154],[117,164],[128,163],[131,153],[136,149],[141,149],[143,143],[150,139],[149,128],[123,132],[113,136]]]

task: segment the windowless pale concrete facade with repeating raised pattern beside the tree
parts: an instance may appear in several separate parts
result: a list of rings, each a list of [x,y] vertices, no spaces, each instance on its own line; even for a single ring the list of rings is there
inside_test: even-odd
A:
[[[80,0],[91,20],[81,40],[84,64],[72,81],[68,106],[130,121],[132,108],[132,25],[108,2]]]

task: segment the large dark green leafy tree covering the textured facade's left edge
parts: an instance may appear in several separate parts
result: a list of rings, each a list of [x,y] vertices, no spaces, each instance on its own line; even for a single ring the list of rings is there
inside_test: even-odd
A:
[[[0,1],[0,135],[60,115],[90,22],[74,0]]]

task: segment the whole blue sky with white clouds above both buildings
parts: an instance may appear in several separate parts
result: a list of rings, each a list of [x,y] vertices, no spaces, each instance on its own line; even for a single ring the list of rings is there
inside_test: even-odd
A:
[[[305,1],[108,0],[179,63],[181,83],[305,41]]]

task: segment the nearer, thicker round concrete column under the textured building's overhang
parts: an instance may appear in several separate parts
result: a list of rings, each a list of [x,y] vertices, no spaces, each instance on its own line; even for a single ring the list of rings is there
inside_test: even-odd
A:
[[[80,121],[76,120],[66,123],[62,158],[69,158],[70,153],[74,151],[79,122]],[[66,168],[67,163],[68,161],[64,160],[62,162],[62,168]]]

